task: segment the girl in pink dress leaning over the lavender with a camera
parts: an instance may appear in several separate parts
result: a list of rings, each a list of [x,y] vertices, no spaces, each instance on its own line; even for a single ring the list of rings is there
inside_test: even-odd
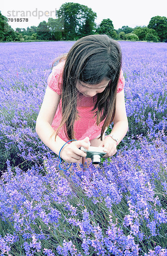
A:
[[[91,163],[81,146],[101,146],[104,158],[113,156],[128,130],[120,45],[107,35],[88,35],[59,59],[37,116],[38,136],[56,154],[76,140],[66,143],[60,156],[78,166]]]

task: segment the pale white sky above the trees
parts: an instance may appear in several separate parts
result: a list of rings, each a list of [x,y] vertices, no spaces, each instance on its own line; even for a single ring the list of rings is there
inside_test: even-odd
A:
[[[88,6],[93,12],[96,12],[97,19],[95,23],[101,23],[103,19],[111,19],[115,29],[121,28],[122,26],[130,26],[134,28],[135,26],[147,26],[150,19],[154,16],[165,16],[167,17],[167,1],[166,0],[47,0],[42,2],[42,0],[8,0],[1,3],[0,11],[1,14],[8,18],[21,18],[16,11],[45,11],[49,12],[49,16],[43,15],[38,19],[38,17],[30,17],[28,22],[9,22],[9,25],[15,28],[27,28],[28,26],[38,26],[38,24],[46,20],[49,17],[54,17],[55,9],[59,9],[63,3],[80,3]],[[14,11],[14,17],[12,16],[12,11]],[[9,12],[11,16],[9,16]],[[50,14],[52,12],[52,14]],[[35,14],[35,12],[34,12]],[[23,18],[23,17],[22,17]]]

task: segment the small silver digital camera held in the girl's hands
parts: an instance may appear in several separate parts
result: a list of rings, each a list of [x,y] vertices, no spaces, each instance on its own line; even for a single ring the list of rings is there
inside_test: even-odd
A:
[[[91,158],[93,164],[101,163],[101,157],[103,157],[107,153],[103,151],[103,147],[89,146],[88,150],[84,147],[80,147],[79,149],[86,153],[86,157]]]

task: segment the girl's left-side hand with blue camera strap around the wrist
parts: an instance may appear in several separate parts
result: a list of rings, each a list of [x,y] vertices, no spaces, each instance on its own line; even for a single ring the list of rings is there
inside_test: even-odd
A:
[[[87,143],[89,143],[89,137],[66,144],[60,152],[60,157],[68,163],[76,163],[81,157],[86,157],[86,153],[79,148],[83,146],[88,149]]]

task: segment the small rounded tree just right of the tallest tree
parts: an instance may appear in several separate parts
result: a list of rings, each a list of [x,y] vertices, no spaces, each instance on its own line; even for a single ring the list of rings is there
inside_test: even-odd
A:
[[[114,32],[114,26],[112,24],[112,20],[110,19],[102,20],[100,26],[97,29],[97,32],[99,34],[106,34],[112,37]]]

